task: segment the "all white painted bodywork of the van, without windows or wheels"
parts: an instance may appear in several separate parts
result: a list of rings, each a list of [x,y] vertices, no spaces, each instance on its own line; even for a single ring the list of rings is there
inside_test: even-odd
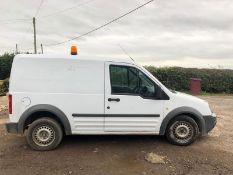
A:
[[[170,100],[150,100],[140,96],[111,95],[109,64],[130,65],[157,83]],[[67,116],[73,134],[158,134],[170,111],[189,106],[202,115],[211,115],[207,102],[172,93],[142,66],[131,60],[82,56],[17,55],[14,59],[9,93],[13,97],[10,122],[38,104],[57,107]],[[120,102],[108,102],[118,97]],[[107,106],[110,109],[107,110]],[[103,114],[102,117],[73,117]],[[160,114],[160,117],[104,117],[104,114]]]

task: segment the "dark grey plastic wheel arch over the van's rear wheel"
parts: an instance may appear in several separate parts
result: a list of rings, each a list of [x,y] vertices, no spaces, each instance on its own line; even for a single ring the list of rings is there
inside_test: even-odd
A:
[[[71,135],[71,126],[66,115],[59,108],[48,104],[35,105],[24,111],[19,119],[18,132],[23,134],[27,125],[41,118],[40,115],[55,119],[62,126],[64,133]]]

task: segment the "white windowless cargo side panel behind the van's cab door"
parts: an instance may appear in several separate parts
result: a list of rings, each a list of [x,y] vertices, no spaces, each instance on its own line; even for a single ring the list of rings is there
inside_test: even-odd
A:
[[[10,79],[12,122],[32,106],[49,104],[65,113],[72,133],[103,130],[103,116],[72,114],[104,114],[104,62],[67,59],[15,58]]]

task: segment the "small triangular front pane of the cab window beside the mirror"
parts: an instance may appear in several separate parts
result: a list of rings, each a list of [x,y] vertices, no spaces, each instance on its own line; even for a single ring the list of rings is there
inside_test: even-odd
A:
[[[143,97],[155,97],[157,86],[144,73],[139,71],[139,93]]]

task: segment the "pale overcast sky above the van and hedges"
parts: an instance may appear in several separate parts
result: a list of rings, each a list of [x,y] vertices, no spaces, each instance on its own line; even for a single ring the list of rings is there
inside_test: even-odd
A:
[[[142,65],[233,69],[232,0],[154,0],[88,36],[86,33],[148,0],[0,0],[0,53],[37,49],[130,59]],[[122,49],[123,48],[123,49]],[[124,50],[124,51],[123,51]],[[126,54],[126,53],[127,54]],[[129,55],[129,56],[128,56]]]

